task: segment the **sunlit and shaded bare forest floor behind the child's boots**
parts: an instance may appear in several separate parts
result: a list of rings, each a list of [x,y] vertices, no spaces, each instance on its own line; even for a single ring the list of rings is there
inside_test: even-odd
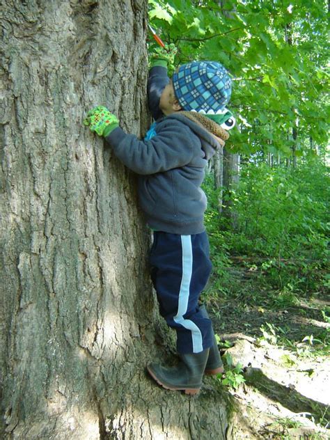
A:
[[[249,266],[226,269],[232,294],[214,295],[214,285],[206,294],[235,403],[233,438],[329,439],[330,295],[271,291]]]

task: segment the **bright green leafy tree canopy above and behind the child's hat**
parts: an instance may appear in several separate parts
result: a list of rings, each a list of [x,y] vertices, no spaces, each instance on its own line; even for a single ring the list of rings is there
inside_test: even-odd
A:
[[[326,145],[327,2],[150,0],[149,6],[152,26],[178,47],[177,64],[212,59],[233,75],[229,107],[239,124],[231,148],[299,156],[310,139]]]

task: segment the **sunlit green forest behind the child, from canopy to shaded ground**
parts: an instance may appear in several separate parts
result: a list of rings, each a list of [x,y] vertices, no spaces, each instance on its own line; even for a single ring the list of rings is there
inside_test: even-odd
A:
[[[214,264],[205,299],[217,330],[326,356],[329,328],[308,330],[291,312],[329,324],[329,4],[149,6],[150,24],[178,47],[175,64],[216,60],[233,78],[236,126],[226,149],[238,157],[236,178],[219,184],[213,166],[205,183]]]

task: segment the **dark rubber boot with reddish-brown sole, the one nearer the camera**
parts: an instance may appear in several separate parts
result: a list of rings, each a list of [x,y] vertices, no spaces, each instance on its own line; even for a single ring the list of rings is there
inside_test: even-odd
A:
[[[168,390],[196,394],[201,389],[209,349],[200,353],[180,354],[181,362],[175,367],[150,363],[147,367],[152,379]]]

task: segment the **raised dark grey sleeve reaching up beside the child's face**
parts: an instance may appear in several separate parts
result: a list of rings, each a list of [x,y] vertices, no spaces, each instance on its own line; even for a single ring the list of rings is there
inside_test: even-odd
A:
[[[161,118],[163,115],[159,109],[159,100],[162,95],[162,91],[169,83],[170,79],[167,76],[167,69],[156,65],[149,71],[148,78],[148,106],[152,114],[152,118],[155,120]]]

